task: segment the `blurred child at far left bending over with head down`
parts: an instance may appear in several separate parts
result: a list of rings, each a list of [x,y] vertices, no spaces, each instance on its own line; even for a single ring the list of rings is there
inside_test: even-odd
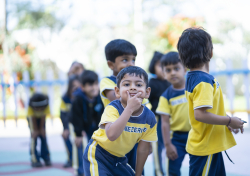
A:
[[[27,119],[31,132],[31,166],[42,167],[40,158],[46,166],[51,166],[50,154],[46,140],[45,117],[50,114],[49,99],[47,95],[34,93],[29,100]],[[41,151],[38,152],[37,139],[41,140]]]

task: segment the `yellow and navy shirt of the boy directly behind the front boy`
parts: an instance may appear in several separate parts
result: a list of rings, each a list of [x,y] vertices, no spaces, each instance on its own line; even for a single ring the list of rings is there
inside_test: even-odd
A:
[[[103,78],[100,82],[100,95],[101,95],[101,99],[103,102],[104,107],[106,107],[110,101],[109,99],[106,97],[104,91],[105,90],[115,90],[116,87],[116,77],[115,76],[109,76],[106,78]],[[147,104],[148,103],[148,99],[144,99],[142,101],[142,104]]]

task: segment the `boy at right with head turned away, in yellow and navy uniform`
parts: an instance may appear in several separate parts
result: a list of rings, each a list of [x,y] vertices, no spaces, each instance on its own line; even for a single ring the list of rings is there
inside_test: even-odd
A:
[[[211,36],[202,28],[188,28],[177,48],[184,66],[190,69],[185,88],[191,123],[186,146],[189,175],[226,175],[221,152],[236,145],[231,131],[240,128],[243,133],[243,122],[226,115],[220,84],[209,74]]]

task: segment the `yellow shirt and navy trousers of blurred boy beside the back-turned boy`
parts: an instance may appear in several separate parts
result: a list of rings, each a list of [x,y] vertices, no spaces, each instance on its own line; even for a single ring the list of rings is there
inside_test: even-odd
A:
[[[167,161],[167,175],[181,175],[182,161],[187,154],[186,143],[191,129],[188,118],[188,103],[185,89],[174,89],[170,86],[160,97],[158,114],[170,116],[171,142],[177,149],[178,158]]]

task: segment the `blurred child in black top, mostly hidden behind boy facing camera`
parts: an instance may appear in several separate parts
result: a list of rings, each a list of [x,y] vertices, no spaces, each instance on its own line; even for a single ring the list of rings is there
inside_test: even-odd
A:
[[[149,102],[152,105],[151,111],[153,111],[157,120],[158,142],[152,143],[155,175],[157,176],[163,175],[161,153],[162,149],[164,148],[164,144],[161,133],[161,118],[160,115],[155,112],[155,110],[158,106],[161,94],[170,86],[170,83],[164,78],[164,73],[161,67],[162,56],[162,53],[155,51],[149,65],[149,72],[156,75],[155,78],[151,78],[149,81],[149,87],[151,87]]]

